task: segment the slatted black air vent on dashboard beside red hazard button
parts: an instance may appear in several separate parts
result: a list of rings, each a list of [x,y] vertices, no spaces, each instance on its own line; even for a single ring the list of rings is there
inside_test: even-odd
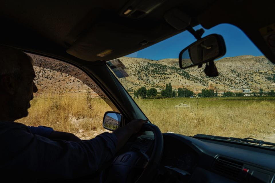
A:
[[[237,178],[242,168],[243,164],[241,162],[224,157],[218,157],[213,165],[213,170],[231,178]]]

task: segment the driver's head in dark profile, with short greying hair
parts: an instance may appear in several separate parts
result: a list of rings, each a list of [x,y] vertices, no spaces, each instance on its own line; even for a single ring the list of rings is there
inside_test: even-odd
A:
[[[30,100],[38,90],[32,63],[26,53],[0,46],[0,121],[28,116]]]

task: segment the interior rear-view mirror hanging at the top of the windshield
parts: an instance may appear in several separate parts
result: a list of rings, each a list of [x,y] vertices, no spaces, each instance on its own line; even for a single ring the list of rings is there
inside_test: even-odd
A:
[[[185,69],[207,63],[225,55],[226,48],[221,35],[211,34],[184,48],[179,54],[180,68]]]

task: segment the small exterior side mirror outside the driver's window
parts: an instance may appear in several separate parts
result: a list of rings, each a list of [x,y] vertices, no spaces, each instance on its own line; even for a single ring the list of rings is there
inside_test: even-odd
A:
[[[107,111],[104,114],[103,117],[103,128],[110,130],[110,131],[115,131],[117,128],[120,127],[120,123],[122,119],[122,115],[118,112],[113,112],[113,111]]]

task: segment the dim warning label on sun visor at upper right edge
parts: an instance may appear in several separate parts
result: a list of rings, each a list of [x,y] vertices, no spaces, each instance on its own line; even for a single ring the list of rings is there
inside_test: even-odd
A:
[[[275,23],[259,29],[268,47],[275,54]]]

